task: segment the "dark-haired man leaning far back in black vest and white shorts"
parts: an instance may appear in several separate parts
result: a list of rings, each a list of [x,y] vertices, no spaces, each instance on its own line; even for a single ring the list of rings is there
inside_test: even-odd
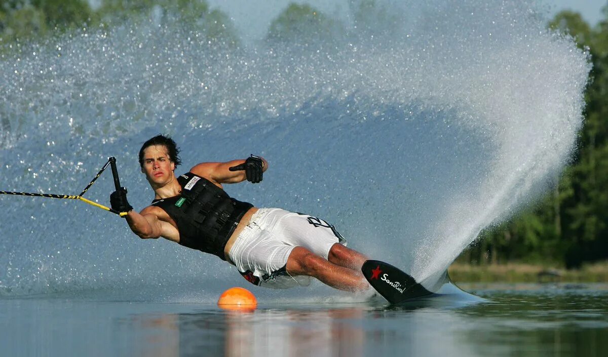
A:
[[[232,199],[224,183],[258,183],[268,169],[264,158],[205,162],[176,177],[179,148],[157,135],[143,143],[139,165],[154,189],[154,200],[140,213],[126,189],[110,196],[113,209],[128,212],[131,230],[142,239],[164,237],[218,256],[235,265],[255,285],[285,288],[308,285],[309,277],[345,291],[370,288],[361,274],[367,259],[345,247],[334,226],[306,214],[255,208]]]

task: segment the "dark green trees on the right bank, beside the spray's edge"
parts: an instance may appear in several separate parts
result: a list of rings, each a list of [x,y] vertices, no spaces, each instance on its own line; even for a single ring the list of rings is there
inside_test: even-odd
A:
[[[592,28],[578,13],[558,13],[549,27],[588,49],[593,69],[586,91],[578,153],[559,185],[533,211],[482,235],[463,255],[476,262],[522,262],[577,268],[608,259],[608,6]],[[479,259],[480,252],[494,252]]]

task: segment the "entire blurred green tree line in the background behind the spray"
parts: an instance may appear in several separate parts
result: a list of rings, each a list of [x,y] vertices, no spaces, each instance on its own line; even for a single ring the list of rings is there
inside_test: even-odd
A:
[[[385,33],[398,25],[398,19],[374,0],[356,2],[351,12],[360,27],[373,33]],[[608,259],[608,6],[603,14],[604,19],[593,27],[570,11],[558,13],[548,24],[589,50],[593,62],[575,158],[537,206],[484,231],[461,254],[460,261],[518,261],[570,268]],[[44,39],[76,27],[124,19],[146,21],[151,16],[164,23],[187,25],[209,40],[238,45],[229,16],[210,9],[204,0],[104,0],[97,9],[85,0],[0,0],[0,46]],[[333,32],[344,33],[344,25],[309,5],[291,4],[271,22],[266,39],[280,42],[304,37],[314,41]]]

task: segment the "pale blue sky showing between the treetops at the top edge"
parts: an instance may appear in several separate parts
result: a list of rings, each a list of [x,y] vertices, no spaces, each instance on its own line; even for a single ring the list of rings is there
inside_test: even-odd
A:
[[[260,39],[266,34],[268,25],[291,2],[306,3],[321,12],[343,13],[347,0],[207,0],[212,8],[219,8],[235,22],[244,39]],[[601,19],[601,9],[608,0],[539,0],[548,5],[551,13],[574,10],[581,13],[589,24],[595,25]]]

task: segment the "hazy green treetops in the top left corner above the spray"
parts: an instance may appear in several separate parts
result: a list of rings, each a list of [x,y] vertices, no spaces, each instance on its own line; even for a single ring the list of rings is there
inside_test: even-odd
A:
[[[86,0],[0,0],[0,44],[43,39],[82,25],[155,21],[202,34],[205,41],[237,44],[230,18],[205,0],[105,0],[92,10]]]

